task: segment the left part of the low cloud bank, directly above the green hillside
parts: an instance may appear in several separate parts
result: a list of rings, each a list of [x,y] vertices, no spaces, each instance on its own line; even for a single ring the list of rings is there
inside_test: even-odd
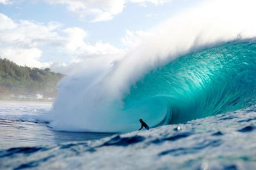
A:
[[[47,24],[12,19],[0,13],[0,56],[8,58],[18,65],[35,67],[49,66],[49,63],[40,62],[42,48],[47,45],[53,47],[61,45],[61,38],[55,22]]]

